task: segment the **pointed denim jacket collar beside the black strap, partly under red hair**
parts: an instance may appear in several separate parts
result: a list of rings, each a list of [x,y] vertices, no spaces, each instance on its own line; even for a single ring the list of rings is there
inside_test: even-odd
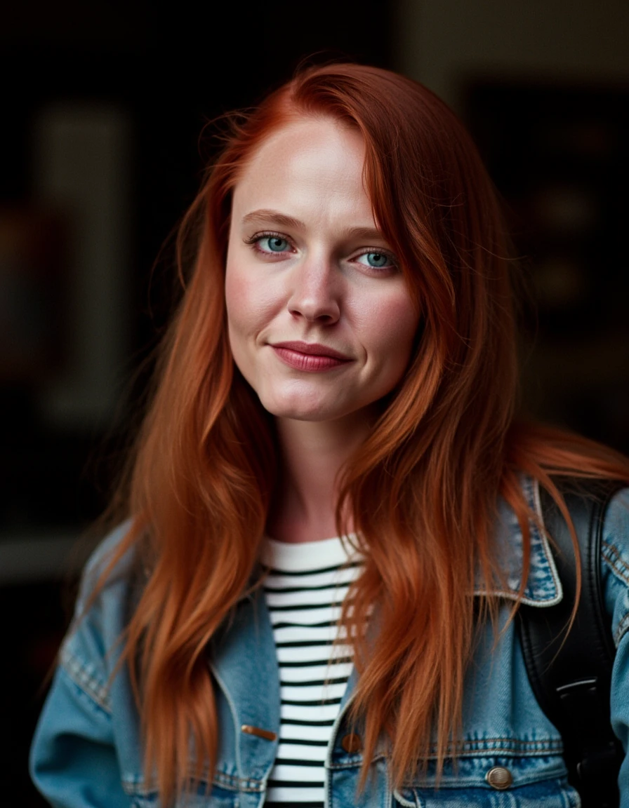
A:
[[[537,480],[522,475],[521,487],[526,503],[538,516],[539,523],[543,524]],[[564,595],[555,560],[548,539],[539,529],[538,524],[531,520],[529,525],[530,567],[521,603],[530,606],[554,606]],[[494,595],[517,600],[522,579],[523,539],[517,517],[503,499],[500,499],[498,504],[496,548],[501,556],[500,568],[504,570],[504,580],[496,583],[489,590],[481,583],[477,583],[475,595]]]

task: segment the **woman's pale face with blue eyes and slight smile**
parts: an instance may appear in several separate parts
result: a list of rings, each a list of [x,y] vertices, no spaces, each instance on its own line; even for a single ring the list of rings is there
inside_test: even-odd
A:
[[[369,415],[407,368],[419,316],[374,221],[364,162],[355,130],[303,118],[263,142],[234,188],[230,344],[278,418]]]

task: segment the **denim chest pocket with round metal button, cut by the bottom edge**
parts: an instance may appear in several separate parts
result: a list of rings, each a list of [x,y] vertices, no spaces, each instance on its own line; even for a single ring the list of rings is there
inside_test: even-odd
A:
[[[417,782],[394,792],[394,808],[580,808],[555,755],[519,759],[460,759],[439,789]]]

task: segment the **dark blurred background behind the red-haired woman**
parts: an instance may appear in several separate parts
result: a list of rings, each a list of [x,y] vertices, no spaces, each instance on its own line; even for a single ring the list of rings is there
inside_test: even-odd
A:
[[[542,419],[629,452],[625,0],[55,4],[2,11],[0,722],[27,781],[72,548],[107,503],[175,297],[205,124],[304,57],[397,69],[471,128],[509,210]],[[161,257],[156,263],[158,255]],[[8,790],[7,790],[8,789]]]

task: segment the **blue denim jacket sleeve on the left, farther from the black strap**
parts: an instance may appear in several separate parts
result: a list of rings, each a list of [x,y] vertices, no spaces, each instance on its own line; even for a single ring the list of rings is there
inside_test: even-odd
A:
[[[110,695],[112,638],[119,636],[125,591],[105,589],[82,613],[108,549],[122,532],[106,540],[88,563],[77,615],[61,646],[52,687],[33,737],[30,769],[40,792],[54,808],[129,808],[120,778],[120,749]],[[122,580],[120,575],[118,581]],[[110,604],[108,606],[108,603]],[[116,618],[112,618],[112,613]]]

